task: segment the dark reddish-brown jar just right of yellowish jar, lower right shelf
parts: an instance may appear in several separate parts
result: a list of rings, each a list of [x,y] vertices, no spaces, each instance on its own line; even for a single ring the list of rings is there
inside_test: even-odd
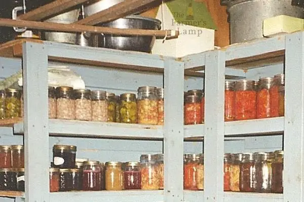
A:
[[[240,164],[240,191],[254,192],[254,155],[245,153]]]

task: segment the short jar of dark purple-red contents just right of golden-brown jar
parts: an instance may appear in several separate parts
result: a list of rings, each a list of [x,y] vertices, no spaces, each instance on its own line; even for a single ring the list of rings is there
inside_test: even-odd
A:
[[[139,162],[127,162],[124,167],[125,189],[141,189]]]

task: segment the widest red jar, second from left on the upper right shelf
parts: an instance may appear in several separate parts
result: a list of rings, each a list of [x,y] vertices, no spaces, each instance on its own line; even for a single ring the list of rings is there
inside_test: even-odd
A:
[[[256,118],[256,91],[254,81],[235,82],[235,120]]]

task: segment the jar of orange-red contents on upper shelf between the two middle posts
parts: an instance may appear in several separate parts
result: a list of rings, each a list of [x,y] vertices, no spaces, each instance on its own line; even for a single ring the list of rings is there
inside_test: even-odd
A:
[[[187,95],[184,106],[184,124],[200,124],[202,121],[201,97],[198,95]]]

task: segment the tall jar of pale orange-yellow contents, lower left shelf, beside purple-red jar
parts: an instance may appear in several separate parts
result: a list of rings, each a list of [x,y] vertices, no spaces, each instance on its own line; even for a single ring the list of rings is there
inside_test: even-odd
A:
[[[140,173],[142,190],[160,189],[156,161],[153,155],[140,156]]]

